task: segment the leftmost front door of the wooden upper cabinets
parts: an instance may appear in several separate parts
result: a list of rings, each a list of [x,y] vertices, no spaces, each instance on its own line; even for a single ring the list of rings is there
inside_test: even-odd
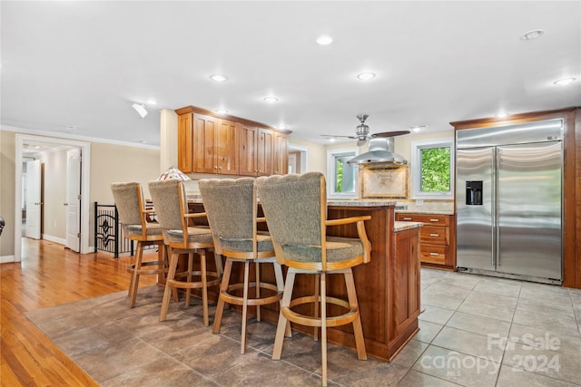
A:
[[[193,171],[216,173],[216,122],[211,116],[193,114]]]

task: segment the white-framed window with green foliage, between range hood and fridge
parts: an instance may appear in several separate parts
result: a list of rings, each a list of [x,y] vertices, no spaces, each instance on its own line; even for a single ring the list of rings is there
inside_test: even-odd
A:
[[[412,141],[412,198],[453,198],[452,139]]]

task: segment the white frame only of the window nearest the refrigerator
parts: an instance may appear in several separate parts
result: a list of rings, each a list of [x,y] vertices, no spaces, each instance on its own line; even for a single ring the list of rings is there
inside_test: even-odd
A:
[[[433,148],[450,149],[450,189],[449,191],[422,192],[421,189],[421,151]],[[411,198],[413,199],[453,199],[454,198],[454,139],[416,140],[411,142]]]

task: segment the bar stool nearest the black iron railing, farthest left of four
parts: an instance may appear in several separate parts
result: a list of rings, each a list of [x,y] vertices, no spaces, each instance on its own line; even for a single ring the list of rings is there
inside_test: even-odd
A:
[[[139,276],[159,275],[168,272],[168,261],[163,243],[162,228],[158,223],[148,222],[147,216],[155,212],[145,209],[143,190],[140,183],[113,183],[113,199],[125,237],[137,242],[135,263],[127,268],[132,273],[129,285],[129,307],[135,305]],[[143,247],[157,245],[163,260],[143,262]]]

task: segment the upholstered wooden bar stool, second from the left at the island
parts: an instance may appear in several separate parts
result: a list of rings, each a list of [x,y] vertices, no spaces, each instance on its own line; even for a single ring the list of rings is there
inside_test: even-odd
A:
[[[186,289],[185,304],[190,305],[191,290],[201,288],[203,324],[209,326],[208,287],[220,284],[222,260],[216,256],[216,271],[206,270],[206,251],[213,247],[212,232],[208,227],[189,226],[190,219],[205,217],[206,214],[188,213],[185,189],[180,180],[150,181],[149,190],[170,253],[170,267],[165,281],[160,321],[167,318],[172,289]],[[177,273],[180,254],[188,255],[188,268],[185,272]],[[200,256],[200,270],[193,270],[193,254]],[[194,276],[199,277],[199,280],[194,280]]]

